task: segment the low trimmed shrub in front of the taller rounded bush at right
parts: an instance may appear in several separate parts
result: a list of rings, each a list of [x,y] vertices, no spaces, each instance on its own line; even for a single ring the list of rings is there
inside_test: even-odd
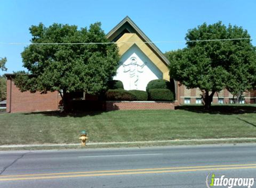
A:
[[[174,101],[174,94],[168,89],[151,89],[148,92],[148,99],[151,101]]]

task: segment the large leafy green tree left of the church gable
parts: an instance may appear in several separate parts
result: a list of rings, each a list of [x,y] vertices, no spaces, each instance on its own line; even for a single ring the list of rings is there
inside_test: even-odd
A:
[[[15,78],[21,91],[57,90],[67,111],[69,92],[97,94],[116,74],[120,58],[117,45],[72,44],[109,42],[100,23],[90,25],[89,29],[61,24],[45,27],[41,23],[29,30],[32,44],[21,53],[28,72],[17,72]]]

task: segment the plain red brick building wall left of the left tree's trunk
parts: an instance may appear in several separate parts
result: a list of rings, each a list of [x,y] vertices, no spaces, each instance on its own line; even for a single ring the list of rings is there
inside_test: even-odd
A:
[[[7,112],[58,110],[60,100],[61,97],[57,91],[47,94],[21,92],[11,78],[7,79]]]

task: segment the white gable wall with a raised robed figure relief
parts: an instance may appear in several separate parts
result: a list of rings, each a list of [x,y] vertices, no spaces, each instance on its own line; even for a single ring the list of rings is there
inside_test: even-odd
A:
[[[121,57],[121,61],[113,80],[123,82],[125,90],[146,91],[148,82],[163,79],[163,73],[138,48],[133,45]]]

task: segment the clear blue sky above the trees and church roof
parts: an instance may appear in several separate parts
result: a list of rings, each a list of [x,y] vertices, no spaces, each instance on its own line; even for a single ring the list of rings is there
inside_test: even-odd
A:
[[[188,29],[221,20],[247,29],[256,45],[256,0],[0,0],[0,42],[28,43],[29,27],[40,22],[80,28],[100,21],[108,33],[125,16],[151,41],[183,41]],[[185,43],[157,46],[166,52],[184,48]],[[0,44],[0,57],[8,59],[8,73],[24,69],[24,47]]]

